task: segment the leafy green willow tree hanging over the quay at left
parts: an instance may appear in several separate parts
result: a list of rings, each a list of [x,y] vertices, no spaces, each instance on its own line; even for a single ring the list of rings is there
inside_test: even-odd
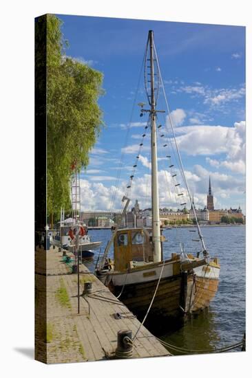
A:
[[[103,74],[65,55],[61,23],[47,16],[47,211],[56,216],[70,208],[72,166],[87,166],[103,124]]]

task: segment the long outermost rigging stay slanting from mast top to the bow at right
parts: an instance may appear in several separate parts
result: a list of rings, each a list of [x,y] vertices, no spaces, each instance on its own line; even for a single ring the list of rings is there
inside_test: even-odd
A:
[[[207,252],[207,248],[204,244],[204,239],[203,239],[203,236],[202,236],[202,233],[201,233],[201,230],[200,230],[200,225],[198,223],[198,217],[197,217],[197,214],[196,214],[196,209],[195,209],[195,205],[192,201],[192,198],[191,198],[191,193],[190,193],[190,190],[189,190],[189,186],[187,184],[187,179],[185,177],[185,170],[184,170],[184,167],[183,167],[183,164],[182,164],[182,159],[181,159],[181,156],[180,156],[180,152],[178,150],[178,144],[177,144],[177,140],[176,140],[176,136],[175,136],[175,132],[174,132],[174,124],[173,124],[173,121],[172,121],[172,118],[171,118],[171,113],[169,111],[169,105],[168,105],[168,102],[167,102],[167,96],[165,94],[165,87],[164,87],[164,84],[162,82],[162,76],[161,76],[161,71],[160,71],[160,65],[159,65],[159,62],[158,62],[158,56],[157,56],[157,53],[156,53],[156,47],[155,45],[153,45],[154,47],[154,52],[155,52],[155,55],[156,55],[156,65],[158,67],[158,72],[159,72],[159,78],[160,78],[160,83],[161,83],[161,86],[162,86],[162,91],[164,93],[164,97],[165,97],[165,104],[166,104],[166,107],[167,107],[167,112],[168,112],[168,116],[169,116],[169,122],[170,122],[170,125],[171,125],[171,131],[172,131],[172,135],[174,137],[174,142],[175,142],[175,146],[176,146],[176,151],[178,153],[178,159],[179,159],[179,162],[180,162],[180,171],[181,171],[181,175],[182,175],[182,178],[185,182],[185,186],[187,188],[187,193],[188,193],[188,196],[189,196],[189,200],[190,200],[190,203],[191,203],[191,208],[193,210],[193,215],[196,219],[196,226],[197,226],[197,230],[198,230],[198,236],[200,238],[200,241],[202,243],[202,249],[203,249],[203,254],[204,256],[209,256],[209,253]],[[166,124],[167,126],[167,124]]]

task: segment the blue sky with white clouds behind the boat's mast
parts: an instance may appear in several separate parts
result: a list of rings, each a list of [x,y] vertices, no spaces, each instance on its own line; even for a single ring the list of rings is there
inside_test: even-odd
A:
[[[240,205],[245,211],[245,28],[85,16],[59,18],[70,44],[66,54],[104,74],[105,95],[99,104],[105,127],[90,155],[90,165],[81,175],[82,209],[120,208],[147,122],[146,115],[140,118],[139,108],[133,104],[151,29],[196,207],[206,204],[211,175],[215,207]],[[147,101],[143,72],[136,103],[141,101]],[[165,109],[161,94],[158,107]],[[167,124],[165,115],[159,117],[158,124],[162,124],[162,135]],[[146,134],[130,193],[141,208],[150,205],[149,129]],[[171,153],[162,148],[163,140],[158,139],[160,206],[179,208],[165,159]],[[172,158],[176,169],[176,158]],[[123,169],[117,180],[121,164]],[[183,191],[182,181],[178,182]]]

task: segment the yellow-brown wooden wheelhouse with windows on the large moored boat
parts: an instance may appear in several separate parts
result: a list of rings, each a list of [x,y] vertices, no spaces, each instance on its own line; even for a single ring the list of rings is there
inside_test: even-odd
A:
[[[162,245],[162,243],[161,243]],[[114,270],[132,269],[153,262],[154,248],[151,230],[143,228],[119,229],[114,236]]]

